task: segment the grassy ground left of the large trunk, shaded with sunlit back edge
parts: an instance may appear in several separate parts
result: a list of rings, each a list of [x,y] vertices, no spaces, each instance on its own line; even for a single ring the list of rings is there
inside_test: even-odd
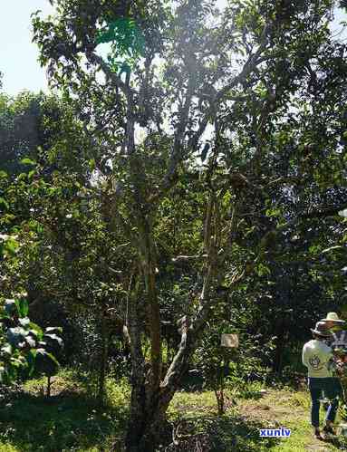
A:
[[[45,380],[24,385],[24,392],[0,404],[0,451],[110,450],[124,431],[129,389],[108,381],[108,403],[100,407],[90,390],[69,373],[43,394]]]

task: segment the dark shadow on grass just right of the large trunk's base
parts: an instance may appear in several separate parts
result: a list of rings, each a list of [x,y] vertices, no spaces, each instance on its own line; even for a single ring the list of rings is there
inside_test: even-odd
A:
[[[178,445],[167,447],[168,452],[259,452],[280,441],[260,437],[259,429],[268,425],[236,415],[181,418],[177,424]]]

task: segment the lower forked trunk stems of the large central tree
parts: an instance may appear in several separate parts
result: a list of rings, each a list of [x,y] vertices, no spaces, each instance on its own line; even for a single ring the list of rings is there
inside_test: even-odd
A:
[[[208,203],[204,231],[207,268],[198,310],[193,319],[190,320],[187,316],[180,319],[181,341],[178,352],[162,381],[160,381],[161,338],[159,303],[155,282],[155,245],[150,233],[150,222],[139,222],[140,266],[141,274],[144,276],[146,299],[149,306],[151,354],[150,369],[146,373],[140,337],[140,332],[143,332],[143,329],[141,329],[142,325],[139,322],[139,314],[143,310],[143,301],[140,301],[140,278],[138,278],[138,290],[133,291],[129,299],[128,329],[130,332],[132,391],[130,423],[126,438],[127,452],[154,452],[159,444],[166,446],[171,442],[166,412],[184,373],[188,370],[189,360],[196,349],[200,333],[203,331],[211,313],[212,299],[210,292],[214,285],[217,269],[218,226],[213,222],[213,212],[216,210],[215,203],[216,197],[212,193]],[[216,302],[216,300],[214,301]]]

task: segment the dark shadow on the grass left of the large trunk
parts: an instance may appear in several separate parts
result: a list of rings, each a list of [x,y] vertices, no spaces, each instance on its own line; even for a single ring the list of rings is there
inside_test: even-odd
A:
[[[27,452],[110,450],[124,428],[124,409],[100,408],[84,394],[47,399],[20,393],[0,407],[0,445]]]

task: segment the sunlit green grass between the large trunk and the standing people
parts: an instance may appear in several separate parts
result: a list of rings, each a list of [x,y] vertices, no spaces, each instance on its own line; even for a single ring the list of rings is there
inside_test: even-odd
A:
[[[235,391],[232,391],[235,393]],[[212,391],[203,393],[179,392],[169,409],[177,422],[187,419],[190,431],[205,432],[211,451],[215,452],[304,452],[306,450],[342,450],[345,442],[338,438],[333,443],[315,440],[309,423],[310,399],[307,391],[267,389],[264,397],[237,399],[224,417],[217,417],[216,400]],[[321,419],[324,412],[321,412]],[[192,428],[191,426],[194,426]],[[265,439],[259,437],[259,428],[291,429],[289,438]]]

